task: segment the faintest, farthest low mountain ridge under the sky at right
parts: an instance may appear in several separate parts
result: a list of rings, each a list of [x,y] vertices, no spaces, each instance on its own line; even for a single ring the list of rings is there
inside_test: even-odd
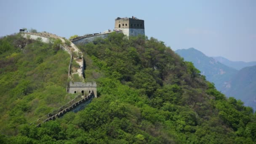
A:
[[[215,59],[216,61],[219,61],[221,64],[225,64],[228,67],[232,67],[237,70],[240,70],[244,67],[251,67],[251,66],[256,65],[256,61],[252,61],[252,62],[229,61],[228,59],[221,57],[221,56],[212,57],[212,58]]]

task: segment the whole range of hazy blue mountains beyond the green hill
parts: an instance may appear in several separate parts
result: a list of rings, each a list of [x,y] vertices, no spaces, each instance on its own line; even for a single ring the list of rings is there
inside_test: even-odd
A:
[[[175,52],[184,60],[193,62],[201,74],[213,82],[219,91],[228,97],[232,96],[242,100],[245,106],[256,110],[256,65],[245,67],[245,65],[253,64],[253,62],[229,61],[222,57],[213,59],[195,48],[181,49]],[[229,64],[230,67],[225,64]],[[231,66],[237,69],[244,68],[237,71]]]

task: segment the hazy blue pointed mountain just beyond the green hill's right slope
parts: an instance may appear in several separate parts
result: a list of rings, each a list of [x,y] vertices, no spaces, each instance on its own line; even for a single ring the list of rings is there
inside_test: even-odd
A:
[[[183,57],[185,61],[194,63],[201,74],[205,75],[207,80],[213,82],[219,91],[237,73],[236,69],[215,61],[215,59],[206,56],[195,48],[180,49],[175,52]]]

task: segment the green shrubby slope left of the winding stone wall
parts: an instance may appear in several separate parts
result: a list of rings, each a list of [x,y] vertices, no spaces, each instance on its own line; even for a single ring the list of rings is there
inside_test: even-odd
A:
[[[0,39],[1,133],[16,135],[21,124],[32,123],[71,99],[66,96],[70,56],[55,43],[21,35]]]

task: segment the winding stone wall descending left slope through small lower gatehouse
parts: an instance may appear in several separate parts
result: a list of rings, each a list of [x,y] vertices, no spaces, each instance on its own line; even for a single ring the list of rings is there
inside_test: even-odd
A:
[[[61,40],[61,49],[67,51],[70,55],[70,62],[68,67],[68,78],[72,81],[72,76],[77,74],[79,77],[84,80],[84,68],[85,68],[85,61],[83,59],[83,53],[77,48],[77,46],[70,42],[70,45],[65,44],[67,40],[64,40],[64,38],[59,37],[57,35],[48,33],[48,32],[37,32],[37,33],[31,33],[31,32],[22,32],[21,35],[24,38],[32,39],[32,40],[40,40],[43,43],[53,43],[54,40],[60,39]],[[77,64],[79,64],[79,67],[72,67],[72,61],[75,61]],[[72,88],[77,88],[74,86],[76,83],[81,82],[70,82],[69,85],[67,85],[67,92],[70,90],[70,85],[72,85]],[[43,117],[40,117],[37,121],[33,122],[34,124],[37,124],[37,127],[41,125],[41,123],[47,122],[49,120],[55,120],[56,118],[62,117],[64,114],[70,111],[77,112],[81,109],[83,109],[88,102],[91,101],[93,97],[97,96],[97,90],[96,90],[96,83],[82,83],[85,85],[83,87],[83,90],[88,91],[89,95],[84,97],[85,91],[82,90],[82,94],[77,93],[78,96],[75,99],[72,99],[64,106],[60,107],[59,110],[53,111],[52,113],[45,115]],[[87,86],[87,87],[86,87]],[[89,88],[88,88],[89,87]],[[81,88],[81,87],[78,87]],[[76,92],[75,92],[76,93]],[[84,106],[84,107],[83,107]],[[77,109],[80,107],[80,109]]]

